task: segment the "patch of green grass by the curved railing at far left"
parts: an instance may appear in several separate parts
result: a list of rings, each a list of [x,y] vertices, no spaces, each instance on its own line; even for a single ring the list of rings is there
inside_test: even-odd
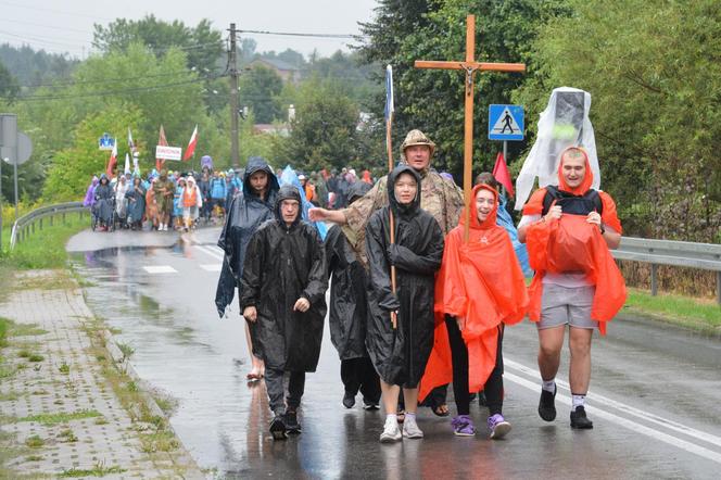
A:
[[[45,218],[42,230],[36,225],[35,233],[30,233],[10,251],[10,227],[3,225],[0,262],[17,269],[62,268],[67,262],[65,243],[73,235],[89,226],[90,218],[85,216],[80,219],[76,213],[67,214],[65,224],[60,217],[55,218],[52,227],[49,218]]]

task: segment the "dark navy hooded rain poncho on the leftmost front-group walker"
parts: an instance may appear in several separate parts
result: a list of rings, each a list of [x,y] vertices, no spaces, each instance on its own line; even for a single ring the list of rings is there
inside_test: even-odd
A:
[[[268,174],[268,193],[265,200],[261,200],[253,192],[250,184],[251,175],[261,170]],[[278,178],[273,173],[273,168],[262,157],[251,156],[245,167],[243,193],[232,199],[218,239],[218,247],[225,252],[220,278],[215,292],[215,305],[220,316],[232,302],[236,287],[240,285],[245,248],[251,236],[264,222],[273,218],[277,193]]]

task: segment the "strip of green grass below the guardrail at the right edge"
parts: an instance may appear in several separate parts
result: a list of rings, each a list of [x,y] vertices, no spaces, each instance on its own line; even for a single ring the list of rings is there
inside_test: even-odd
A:
[[[653,296],[647,291],[630,288],[625,307],[632,312],[698,330],[721,329],[721,306],[714,301],[666,293]]]

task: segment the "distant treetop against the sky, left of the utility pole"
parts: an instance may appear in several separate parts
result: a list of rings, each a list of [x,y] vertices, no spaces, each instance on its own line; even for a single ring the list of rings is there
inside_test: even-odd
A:
[[[106,27],[94,24],[92,46],[103,53],[125,51],[137,42],[147,46],[157,58],[172,47],[184,50],[188,67],[199,72],[217,71],[224,54],[222,34],[206,18],[194,27],[177,20],[164,22],[152,14],[138,21],[118,18]]]

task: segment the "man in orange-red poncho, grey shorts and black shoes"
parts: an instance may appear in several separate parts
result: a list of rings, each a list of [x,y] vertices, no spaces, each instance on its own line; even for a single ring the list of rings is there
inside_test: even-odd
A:
[[[569,326],[571,428],[591,429],[584,402],[591,380],[591,339],[603,333],[625,302],[625,285],[608,249],[621,241],[621,223],[611,197],[591,189],[593,173],[582,148],[560,155],[558,187],[533,193],[523,206],[518,237],[535,269],[529,289],[529,317],[539,331],[543,380],[539,415],[556,418],[556,374]]]

